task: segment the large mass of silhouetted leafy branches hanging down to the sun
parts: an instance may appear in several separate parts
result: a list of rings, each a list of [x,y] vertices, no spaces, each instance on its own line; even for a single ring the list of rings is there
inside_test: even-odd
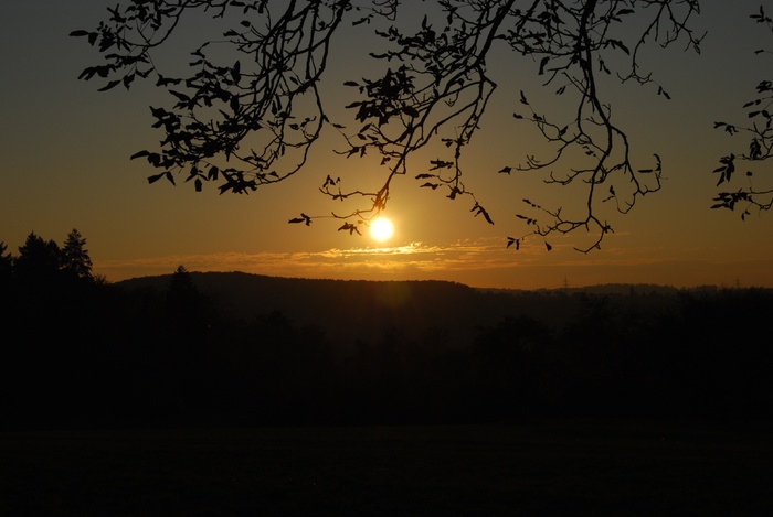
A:
[[[356,202],[332,213],[350,233],[385,208],[393,182],[406,175],[452,200],[469,200],[470,212],[493,224],[485,201],[463,182],[463,151],[497,90],[489,71],[495,50],[531,58],[533,73],[568,99],[566,108],[547,115],[523,90],[504,91],[515,118],[533,125],[549,148],[547,155],[490,172],[542,172],[548,183],[578,185],[580,207],[523,198],[527,215],[518,217],[527,230],[507,246],[586,229],[593,237],[579,249],[590,251],[612,231],[600,205],[614,202],[627,213],[660,189],[663,172],[657,154],[634,163],[599,82],[649,85],[668,98],[639,56],[647,46],[676,42],[698,51],[702,35],[691,28],[698,12],[698,0],[125,0],[108,8],[96,30],[71,34],[103,54],[102,64],[80,76],[103,79],[100,90],[151,79],[170,94],[168,106],[151,107],[152,126],[163,133],[159,149],[133,157],[158,169],[150,183],[182,176],[197,191],[212,182],[221,194],[250,193],[299,172],[325,131],[340,137],[339,154],[379,157],[375,189],[332,176],[320,187],[332,200]],[[165,62],[172,35],[197,20],[199,31],[202,15],[222,32],[193,46],[188,71],[179,60]],[[357,25],[371,28],[382,43],[369,53],[374,75],[331,78],[353,96],[346,104],[353,121],[343,123],[321,88],[337,57],[332,45]],[[432,143],[437,159],[409,164]],[[317,217],[300,213],[289,222],[309,225]]]

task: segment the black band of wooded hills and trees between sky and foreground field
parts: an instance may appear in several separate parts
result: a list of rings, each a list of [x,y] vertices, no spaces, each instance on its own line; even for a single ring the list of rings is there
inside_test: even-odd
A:
[[[109,283],[24,261],[45,244],[3,257],[10,429],[773,414],[767,289],[478,290],[182,266]]]

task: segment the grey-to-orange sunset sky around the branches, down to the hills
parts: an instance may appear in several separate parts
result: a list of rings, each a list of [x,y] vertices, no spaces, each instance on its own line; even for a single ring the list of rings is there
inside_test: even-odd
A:
[[[717,180],[711,171],[741,142],[713,130],[713,122],[743,122],[741,106],[759,80],[770,78],[770,57],[753,54],[773,46],[749,20],[759,4],[705,1],[697,20],[709,31],[701,55],[682,53],[680,46],[647,54],[670,101],[650,88],[615,89],[615,117],[636,152],[663,158],[666,180],[629,215],[611,219],[615,234],[602,250],[583,255],[572,249],[582,244],[579,235],[551,239],[550,252],[533,238],[520,251],[505,248],[507,236],[527,231],[515,217],[519,200],[549,204],[570,193],[546,193],[533,179],[496,173],[522,162],[539,146],[530,128],[512,119],[511,108],[497,109],[496,104],[465,162],[465,183],[494,226],[473,217],[469,201],[452,202],[419,189],[412,175],[400,179],[385,213],[396,227],[389,247],[339,233],[340,222],[333,219],[311,227],[288,225],[300,212],[335,208],[317,191],[327,174],[368,177],[368,162],[335,161],[331,144],[317,149],[301,174],[251,195],[221,196],[213,187],[195,193],[188,184],[148,185],[147,176],[156,171],[129,157],[155,148],[161,137],[150,128],[148,109],[161,103],[159,94],[149,85],[97,93],[100,84],[77,80],[99,56],[68,33],[95,28],[105,17],[105,2],[3,1],[0,240],[17,254],[30,231],[63,244],[77,228],[87,239],[94,271],[109,281],[170,273],[183,265],[191,271],[440,279],[517,289],[564,282],[773,287],[773,214],[741,222],[739,214],[709,209]],[[358,79],[361,65],[349,61],[357,45],[341,44],[342,58],[333,72],[341,74],[340,82]],[[497,79],[539,96],[539,83],[529,78],[533,69],[521,79],[518,68],[517,76],[502,68]],[[413,172],[423,172],[426,162],[414,163]]]

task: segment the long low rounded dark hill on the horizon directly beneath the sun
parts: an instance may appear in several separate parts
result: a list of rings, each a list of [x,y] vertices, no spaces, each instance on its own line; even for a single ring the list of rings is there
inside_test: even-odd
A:
[[[446,281],[315,280],[243,272],[191,272],[199,290],[224,314],[250,320],[278,311],[297,325],[317,325],[339,342],[379,341],[386,331],[421,336],[432,327],[466,340],[486,311],[479,293]],[[121,289],[166,290],[171,274],[117,282]]]

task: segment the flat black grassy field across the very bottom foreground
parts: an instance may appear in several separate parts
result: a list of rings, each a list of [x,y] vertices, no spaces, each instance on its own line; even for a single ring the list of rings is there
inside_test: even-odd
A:
[[[0,514],[773,515],[770,426],[0,435]]]

